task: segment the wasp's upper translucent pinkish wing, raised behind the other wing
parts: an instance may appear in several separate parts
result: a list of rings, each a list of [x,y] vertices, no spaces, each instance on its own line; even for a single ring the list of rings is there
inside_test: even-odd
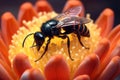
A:
[[[81,11],[82,11],[81,6],[73,7],[73,8],[66,10],[65,12],[59,14],[58,16],[54,17],[54,19],[61,21],[61,20],[65,19],[66,17],[78,16],[78,14],[80,14]]]

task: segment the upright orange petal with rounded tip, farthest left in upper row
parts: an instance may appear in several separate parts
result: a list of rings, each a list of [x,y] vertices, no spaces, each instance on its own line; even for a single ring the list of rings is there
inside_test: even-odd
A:
[[[2,37],[7,46],[11,43],[12,35],[18,30],[19,26],[15,17],[10,12],[2,15],[1,30]]]

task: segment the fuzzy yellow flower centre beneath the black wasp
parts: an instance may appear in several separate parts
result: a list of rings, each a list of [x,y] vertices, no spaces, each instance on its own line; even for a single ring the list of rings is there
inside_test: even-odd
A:
[[[90,37],[81,36],[81,42],[86,47],[89,47],[89,49],[85,49],[80,45],[75,34],[71,33],[68,35],[70,37],[71,57],[74,59],[74,61],[72,61],[68,55],[67,39],[54,37],[48,46],[46,54],[42,57],[42,59],[35,62],[35,60],[42,55],[48,38],[45,39],[45,42],[39,51],[37,51],[36,47],[31,47],[34,42],[33,35],[26,39],[24,47],[22,47],[23,40],[26,35],[40,31],[41,25],[55,16],[57,16],[57,13],[55,12],[39,13],[39,17],[34,17],[32,21],[23,21],[24,25],[28,28],[24,26],[20,27],[17,33],[12,37],[12,44],[9,46],[9,59],[11,63],[17,54],[24,53],[28,56],[31,65],[43,72],[44,67],[49,59],[52,56],[61,54],[68,63],[71,73],[73,73],[85,56],[93,53],[100,40],[100,29],[97,28],[97,25],[94,24],[93,20],[91,19],[91,22],[85,24],[90,31]],[[87,15],[86,18],[90,19],[90,15]]]

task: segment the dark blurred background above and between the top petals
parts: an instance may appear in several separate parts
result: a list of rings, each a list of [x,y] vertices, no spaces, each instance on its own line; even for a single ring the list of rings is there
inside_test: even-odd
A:
[[[17,18],[19,7],[24,2],[31,2],[33,5],[37,0],[0,0],[0,18],[1,15],[10,11]],[[48,0],[56,12],[61,12],[67,0]],[[120,24],[120,0],[81,0],[86,9],[86,13],[91,14],[91,18],[96,20],[99,14],[105,8],[111,8],[115,12],[115,24]],[[1,22],[1,21],[0,21]]]

